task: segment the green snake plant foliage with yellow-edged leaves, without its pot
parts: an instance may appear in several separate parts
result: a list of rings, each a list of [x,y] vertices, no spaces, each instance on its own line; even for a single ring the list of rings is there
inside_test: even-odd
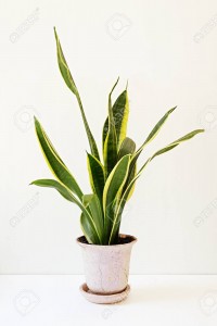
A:
[[[178,138],[151,155],[141,167],[137,168],[138,158],[143,149],[156,137],[167,118],[176,108],[170,109],[158,121],[144,142],[137,149],[135,141],[127,137],[127,122],[129,114],[128,91],[124,91],[112,102],[112,93],[117,82],[108,95],[107,117],[102,131],[102,159],[97,142],[90,130],[82,102],[74,78],[63,54],[63,50],[54,29],[58,63],[65,84],[77,99],[82,116],[85,129],[89,140],[90,152],[87,153],[87,167],[91,193],[84,193],[73,174],[54,149],[40,122],[35,117],[35,128],[44,159],[55,179],[38,179],[33,185],[50,187],[58,190],[66,200],[75,203],[81,211],[80,226],[89,243],[118,243],[119,227],[123,210],[133,192],[135,183],[148,164],[156,156],[174,149],[181,142],[191,139],[203,129],[193,130]]]

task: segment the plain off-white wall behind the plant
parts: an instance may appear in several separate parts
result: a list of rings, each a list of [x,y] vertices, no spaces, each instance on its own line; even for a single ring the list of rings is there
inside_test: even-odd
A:
[[[128,134],[138,146],[178,105],[140,162],[194,128],[207,129],[156,159],[139,180],[122,228],[139,238],[131,272],[217,273],[215,0],[1,1],[0,273],[82,272],[78,209],[54,190],[28,186],[51,176],[34,133],[36,114],[89,191],[88,142],[59,73],[54,25],[95,138],[117,76],[118,91],[129,80]]]

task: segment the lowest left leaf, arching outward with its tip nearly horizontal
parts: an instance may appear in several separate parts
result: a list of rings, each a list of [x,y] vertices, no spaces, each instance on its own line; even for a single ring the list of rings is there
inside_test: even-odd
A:
[[[99,234],[97,231],[97,225],[93,222],[92,216],[90,215],[88,210],[86,210],[85,205],[79,200],[77,200],[77,198],[71,192],[71,190],[67,189],[63,184],[61,184],[56,180],[52,180],[52,179],[39,179],[39,180],[33,181],[30,185],[35,185],[35,186],[39,186],[39,187],[54,188],[65,199],[75,203],[82,211],[81,215],[82,215],[84,228],[86,230],[87,230],[87,227],[89,228],[89,234],[88,235],[85,234],[86,238],[88,239],[88,241],[90,241],[90,243],[97,243],[97,244],[101,243]]]

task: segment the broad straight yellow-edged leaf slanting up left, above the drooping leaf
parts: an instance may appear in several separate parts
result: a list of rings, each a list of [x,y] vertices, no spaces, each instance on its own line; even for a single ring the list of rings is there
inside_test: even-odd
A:
[[[71,191],[73,191],[80,200],[82,199],[82,191],[75,180],[74,176],[71,174],[66,165],[60,159],[60,155],[56,153],[52,143],[50,142],[46,131],[43,130],[39,121],[35,117],[35,127],[38,141],[41,147],[41,151],[44,155],[44,159],[54,174],[54,176],[64,184]]]

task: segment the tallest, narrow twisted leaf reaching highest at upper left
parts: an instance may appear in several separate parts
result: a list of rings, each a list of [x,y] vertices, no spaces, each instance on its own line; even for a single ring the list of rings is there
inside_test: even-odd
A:
[[[85,114],[85,111],[84,111],[84,108],[82,108],[82,102],[80,100],[78,89],[75,85],[75,82],[74,82],[73,76],[71,74],[71,71],[68,68],[68,65],[66,63],[66,60],[65,60],[65,57],[63,54],[61,42],[60,42],[60,39],[59,39],[59,36],[58,36],[58,33],[56,33],[55,28],[54,28],[54,34],[55,34],[55,41],[56,41],[58,62],[59,62],[59,67],[60,67],[61,74],[62,74],[63,79],[65,80],[65,84],[67,85],[67,87],[72,90],[72,92],[77,98],[78,105],[80,108],[80,113],[81,113],[81,116],[82,116],[82,121],[84,121],[84,124],[85,124],[86,133],[87,133],[87,136],[88,136],[91,153],[92,153],[93,156],[95,156],[98,160],[100,160],[100,155],[99,155],[99,152],[98,152],[98,147],[97,147],[95,140],[94,140],[94,138],[92,136],[92,133],[90,130],[90,127],[89,127],[89,124],[88,124],[88,121],[87,121],[87,117],[86,117],[86,114]]]

